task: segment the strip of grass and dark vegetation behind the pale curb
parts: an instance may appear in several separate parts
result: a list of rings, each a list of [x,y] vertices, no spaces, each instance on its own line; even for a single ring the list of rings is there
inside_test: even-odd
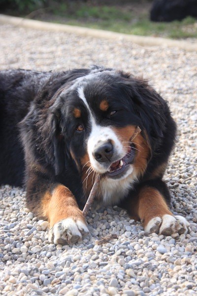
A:
[[[197,19],[192,17],[187,17],[181,22],[151,22],[151,1],[148,0],[122,1],[121,4],[114,1],[114,4],[108,5],[102,5],[102,1],[99,0],[7,0],[6,3],[8,2],[18,5],[19,15],[25,16],[26,13],[28,17],[28,13],[34,10],[29,17],[39,20],[141,36],[197,37]]]

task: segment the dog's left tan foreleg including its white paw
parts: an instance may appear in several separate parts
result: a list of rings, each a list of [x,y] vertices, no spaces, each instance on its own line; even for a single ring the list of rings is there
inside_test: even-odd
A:
[[[42,208],[50,222],[50,242],[73,244],[89,232],[75,197],[64,185],[58,185],[52,194],[48,192],[44,195]]]

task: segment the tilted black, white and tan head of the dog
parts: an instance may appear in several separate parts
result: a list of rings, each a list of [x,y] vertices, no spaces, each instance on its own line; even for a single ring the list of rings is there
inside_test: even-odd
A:
[[[63,169],[60,147],[89,189],[96,173],[111,186],[114,181],[129,186],[144,174],[165,126],[164,100],[146,81],[96,67],[63,86],[56,97],[50,109],[56,118],[57,174]],[[141,133],[131,142],[137,126]]]

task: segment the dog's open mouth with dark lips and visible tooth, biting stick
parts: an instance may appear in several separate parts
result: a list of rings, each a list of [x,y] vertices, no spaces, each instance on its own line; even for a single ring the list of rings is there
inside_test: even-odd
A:
[[[131,147],[122,159],[119,159],[110,165],[106,175],[108,177],[123,175],[123,173],[125,173],[129,168],[129,164],[133,162],[134,156],[135,150],[133,149],[133,147]]]

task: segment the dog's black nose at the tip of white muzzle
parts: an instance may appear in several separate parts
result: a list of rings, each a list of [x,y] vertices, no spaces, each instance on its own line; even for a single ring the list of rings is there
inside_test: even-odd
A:
[[[113,146],[110,142],[106,142],[96,148],[93,154],[99,162],[110,161],[113,155]]]

